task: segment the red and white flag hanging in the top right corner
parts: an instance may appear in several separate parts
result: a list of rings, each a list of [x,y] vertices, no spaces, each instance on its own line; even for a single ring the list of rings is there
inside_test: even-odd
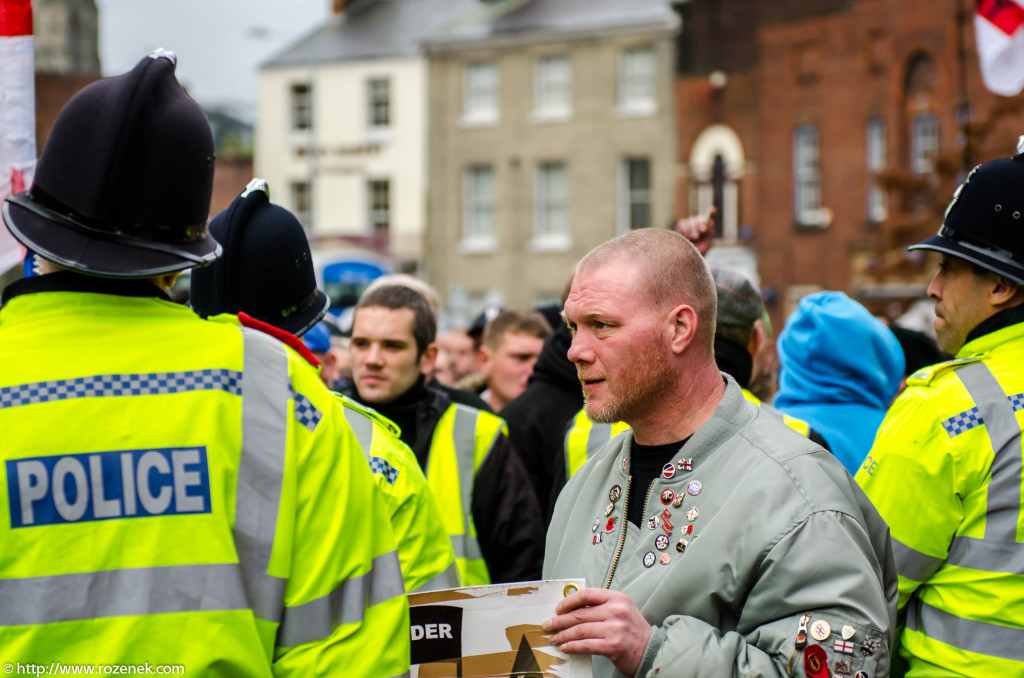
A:
[[[985,87],[1014,96],[1024,88],[1024,0],[977,0],[974,32]]]

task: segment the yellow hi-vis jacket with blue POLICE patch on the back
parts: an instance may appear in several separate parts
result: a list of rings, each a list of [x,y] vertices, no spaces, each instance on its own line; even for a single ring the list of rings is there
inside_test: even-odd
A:
[[[393,676],[386,508],[314,370],[140,281],[0,309],[0,662]]]

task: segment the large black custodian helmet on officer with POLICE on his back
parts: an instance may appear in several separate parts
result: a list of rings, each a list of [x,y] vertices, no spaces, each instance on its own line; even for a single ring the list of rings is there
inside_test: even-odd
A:
[[[67,268],[146,278],[220,254],[207,231],[210,124],[174,77],[173,53],[88,85],[60,111],[27,192],[3,204],[23,245]]]

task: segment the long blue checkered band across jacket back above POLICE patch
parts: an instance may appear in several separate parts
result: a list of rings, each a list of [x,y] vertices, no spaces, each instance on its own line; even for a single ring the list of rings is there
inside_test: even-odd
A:
[[[190,370],[150,374],[110,374],[57,379],[0,388],[0,410],[79,397],[162,395],[220,390],[242,394],[242,373],[234,370]]]

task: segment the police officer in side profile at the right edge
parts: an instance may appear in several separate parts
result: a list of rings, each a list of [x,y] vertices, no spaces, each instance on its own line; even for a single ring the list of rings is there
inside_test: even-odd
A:
[[[907,675],[1024,674],[1024,137],[976,167],[937,236],[928,288],[955,359],[914,373],[857,481],[889,522]]]

